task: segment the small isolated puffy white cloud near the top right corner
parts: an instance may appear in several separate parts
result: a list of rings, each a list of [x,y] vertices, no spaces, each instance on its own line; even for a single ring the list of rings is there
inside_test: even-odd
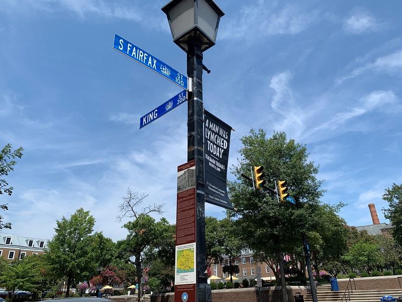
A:
[[[377,20],[365,13],[356,12],[344,22],[344,30],[352,34],[361,34],[365,32],[375,32],[381,28]]]

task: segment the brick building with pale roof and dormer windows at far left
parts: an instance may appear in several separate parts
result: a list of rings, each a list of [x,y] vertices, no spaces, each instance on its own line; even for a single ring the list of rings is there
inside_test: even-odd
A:
[[[44,239],[0,233],[0,256],[8,261],[43,254],[45,250],[47,242]]]

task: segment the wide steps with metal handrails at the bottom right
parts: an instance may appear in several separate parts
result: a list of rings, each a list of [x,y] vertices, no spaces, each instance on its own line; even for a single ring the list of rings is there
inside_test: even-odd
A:
[[[330,284],[319,284],[317,286],[317,299],[319,302],[341,302],[344,291],[331,291]],[[388,289],[388,290],[353,290],[350,292],[351,302],[379,302],[380,298],[384,295],[391,295],[392,297],[402,296],[402,289]],[[345,299],[343,299],[345,301]],[[306,302],[312,302],[312,296],[309,293],[305,296]]]

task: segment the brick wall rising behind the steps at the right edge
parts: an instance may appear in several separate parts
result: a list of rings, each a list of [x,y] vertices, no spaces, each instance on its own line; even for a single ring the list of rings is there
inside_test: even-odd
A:
[[[402,288],[402,276],[382,276],[355,278],[356,290],[397,289]],[[338,279],[339,290],[343,291],[348,286],[349,279]],[[354,283],[351,280],[353,289]],[[350,288],[350,287],[349,287]]]

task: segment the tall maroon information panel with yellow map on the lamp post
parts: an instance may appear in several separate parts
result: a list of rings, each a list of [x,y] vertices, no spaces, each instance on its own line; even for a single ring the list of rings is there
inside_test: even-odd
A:
[[[177,167],[174,302],[196,302],[195,161]]]

